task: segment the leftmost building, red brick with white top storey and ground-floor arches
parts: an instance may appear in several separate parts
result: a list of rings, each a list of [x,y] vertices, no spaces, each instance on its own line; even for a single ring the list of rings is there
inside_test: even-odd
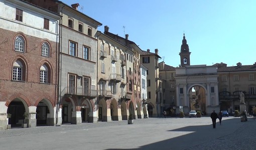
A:
[[[1,0],[0,14],[0,127],[54,125],[60,15],[22,0]]]

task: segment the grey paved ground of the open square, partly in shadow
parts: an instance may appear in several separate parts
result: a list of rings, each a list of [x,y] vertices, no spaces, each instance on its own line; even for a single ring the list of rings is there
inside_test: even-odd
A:
[[[0,149],[256,149],[256,120],[147,118],[0,130]]]

